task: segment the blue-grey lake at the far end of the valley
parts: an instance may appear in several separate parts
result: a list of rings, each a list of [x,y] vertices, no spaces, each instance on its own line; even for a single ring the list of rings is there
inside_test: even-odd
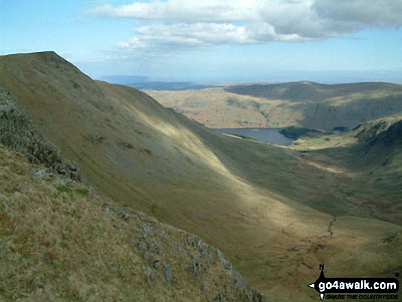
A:
[[[294,141],[294,139],[280,134],[279,128],[214,128],[212,130],[221,134],[250,136],[260,142],[272,142],[282,146],[289,146]]]

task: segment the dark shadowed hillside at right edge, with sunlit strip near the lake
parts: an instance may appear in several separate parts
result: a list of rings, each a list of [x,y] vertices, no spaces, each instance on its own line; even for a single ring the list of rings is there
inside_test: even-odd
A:
[[[402,221],[402,116],[380,118],[353,131],[303,138],[292,149],[305,160],[343,175],[353,186],[340,185],[349,203],[360,204],[373,218]],[[353,179],[353,178],[351,178]]]

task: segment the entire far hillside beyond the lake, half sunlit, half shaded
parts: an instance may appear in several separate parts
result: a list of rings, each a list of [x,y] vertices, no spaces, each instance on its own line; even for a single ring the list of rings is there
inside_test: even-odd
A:
[[[402,86],[308,81],[204,90],[147,91],[208,127],[300,127],[331,131],[402,113]]]

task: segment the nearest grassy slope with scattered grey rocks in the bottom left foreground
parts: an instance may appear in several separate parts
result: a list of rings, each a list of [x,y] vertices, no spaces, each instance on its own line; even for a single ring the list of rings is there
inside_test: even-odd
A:
[[[1,301],[266,301],[201,238],[1,144],[0,179]]]

